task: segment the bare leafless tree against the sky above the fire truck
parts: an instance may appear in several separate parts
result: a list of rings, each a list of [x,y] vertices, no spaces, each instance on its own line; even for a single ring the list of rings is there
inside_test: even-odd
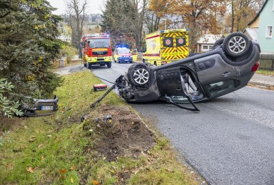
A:
[[[69,9],[69,25],[71,25],[72,45],[76,48],[80,47],[83,34],[83,23],[86,16],[86,0],[68,0],[67,8]]]

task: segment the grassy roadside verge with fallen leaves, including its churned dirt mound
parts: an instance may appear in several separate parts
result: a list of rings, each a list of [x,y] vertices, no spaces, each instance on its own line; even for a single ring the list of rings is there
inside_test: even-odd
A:
[[[92,85],[99,83],[90,71],[66,75],[56,92],[60,108],[55,115],[3,123],[0,184],[201,183],[177,161],[169,140],[146,123],[148,128],[115,93],[88,110],[104,93],[93,92]],[[81,123],[87,113],[89,119]],[[104,114],[112,114],[113,127],[96,119]]]

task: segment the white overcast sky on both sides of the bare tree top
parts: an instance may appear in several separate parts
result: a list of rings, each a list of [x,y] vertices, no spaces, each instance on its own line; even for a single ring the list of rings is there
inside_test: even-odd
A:
[[[66,1],[69,0],[47,0],[49,3],[51,3],[51,6],[54,8],[58,8],[54,14],[64,14],[66,12]],[[79,0],[81,1],[81,0]],[[86,12],[88,14],[97,14],[101,13],[101,8],[103,8],[103,1],[104,0],[87,0],[88,1],[88,7],[86,9]]]

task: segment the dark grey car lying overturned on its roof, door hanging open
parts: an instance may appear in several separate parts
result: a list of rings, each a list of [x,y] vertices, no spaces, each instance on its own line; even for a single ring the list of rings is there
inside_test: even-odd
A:
[[[169,101],[179,106],[207,101],[244,86],[259,67],[260,46],[241,33],[218,40],[212,51],[165,64],[133,64],[116,83],[130,102]],[[182,107],[183,108],[183,107]]]

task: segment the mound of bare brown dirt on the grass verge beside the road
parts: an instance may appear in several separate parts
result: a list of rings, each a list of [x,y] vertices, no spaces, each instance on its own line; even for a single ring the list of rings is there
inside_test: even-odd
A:
[[[95,132],[100,135],[95,149],[108,161],[114,161],[119,156],[137,158],[155,144],[153,132],[129,108],[102,106],[97,112],[97,115],[93,112],[90,116],[91,124],[97,125]],[[112,116],[112,127],[104,124],[102,114]]]

